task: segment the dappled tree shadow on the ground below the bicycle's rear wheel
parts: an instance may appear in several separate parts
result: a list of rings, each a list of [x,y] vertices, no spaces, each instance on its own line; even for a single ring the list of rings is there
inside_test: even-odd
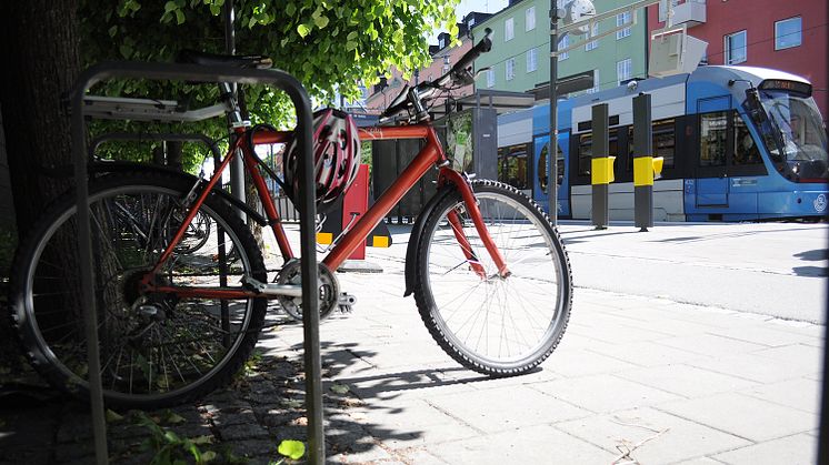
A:
[[[262,340],[273,337],[279,337],[278,332],[262,334]],[[273,346],[273,342],[269,345]],[[337,457],[334,461],[344,461],[353,454],[360,454],[361,461],[387,456],[377,447],[378,438],[416,441],[423,434],[417,428],[388,428],[358,421],[349,414],[367,407],[363,400],[370,397],[351,386],[357,380],[368,381],[371,376],[332,380],[343,371],[352,371],[356,363],[370,366],[376,355],[360,350],[357,357],[349,352],[356,350],[354,345],[324,343],[322,347],[326,448],[327,456]],[[179,437],[209,441],[199,447],[202,452],[217,453],[211,463],[238,463],[233,461],[240,457],[247,457],[249,464],[277,462],[281,457],[277,452],[281,441],[307,442],[301,345],[286,344],[284,348],[300,356],[268,355],[258,347],[229,387],[190,404],[147,414]],[[12,383],[10,380],[20,373],[0,372],[0,465],[94,463],[88,406],[50,388],[28,367],[23,370],[32,376],[31,382]],[[408,382],[416,376],[421,374],[389,375],[390,381],[380,385],[390,390],[392,378]],[[428,371],[422,376],[431,380]],[[420,381],[418,385],[426,387],[433,382]],[[151,462],[153,454],[142,449],[149,429],[137,424],[138,413],[119,413],[123,418],[107,426],[110,462]]]

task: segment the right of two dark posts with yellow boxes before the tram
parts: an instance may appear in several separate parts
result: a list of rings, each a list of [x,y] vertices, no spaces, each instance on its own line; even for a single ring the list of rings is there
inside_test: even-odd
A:
[[[633,218],[639,231],[653,228],[653,129],[647,93],[633,98]]]

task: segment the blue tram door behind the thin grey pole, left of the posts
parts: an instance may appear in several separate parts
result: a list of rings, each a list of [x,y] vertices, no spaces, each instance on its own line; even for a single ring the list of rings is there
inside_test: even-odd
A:
[[[559,172],[559,190],[558,190],[558,215],[570,216],[570,182],[565,175],[568,172],[567,163],[569,152],[569,140],[570,132],[559,134],[559,146],[558,146],[558,172]],[[532,192],[533,199],[538,202],[545,211],[548,211],[550,206],[550,195],[548,192],[548,178],[550,172],[550,165],[548,164],[547,153],[549,152],[550,137],[537,135],[532,141],[533,156],[532,156]]]

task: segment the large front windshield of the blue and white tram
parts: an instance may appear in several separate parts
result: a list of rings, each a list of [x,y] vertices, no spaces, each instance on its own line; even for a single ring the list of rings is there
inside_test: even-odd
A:
[[[826,180],[827,137],[815,100],[762,90],[760,102],[768,115],[767,124],[771,125],[765,128],[763,139],[772,161],[787,165],[798,181]]]

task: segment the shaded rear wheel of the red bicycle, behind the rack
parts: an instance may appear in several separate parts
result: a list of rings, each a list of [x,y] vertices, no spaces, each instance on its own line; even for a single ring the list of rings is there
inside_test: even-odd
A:
[[[184,218],[180,203],[191,188],[188,179],[154,172],[90,184],[93,297],[103,396],[110,406],[159,408],[228,384],[262,326],[263,299],[178,299],[139,290]],[[256,241],[223,201],[209,196],[197,219],[209,236],[199,237],[198,247],[186,242],[174,247],[156,275],[158,284],[239,287],[246,274],[267,280]],[[54,386],[86,396],[76,236],[77,208],[68,196],[18,250],[10,303],[34,367]],[[222,262],[231,249],[237,251],[233,262]]]

